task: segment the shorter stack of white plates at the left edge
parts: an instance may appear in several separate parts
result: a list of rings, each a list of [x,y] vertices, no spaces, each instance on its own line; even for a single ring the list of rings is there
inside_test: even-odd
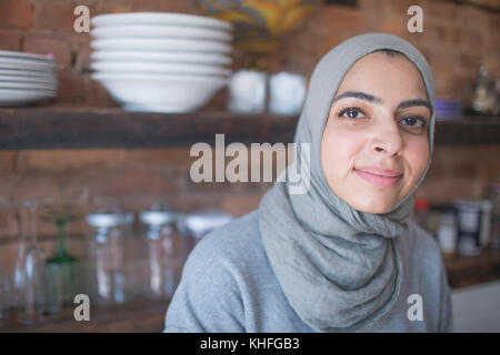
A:
[[[40,54],[0,51],[0,106],[22,106],[56,97],[53,60]]]

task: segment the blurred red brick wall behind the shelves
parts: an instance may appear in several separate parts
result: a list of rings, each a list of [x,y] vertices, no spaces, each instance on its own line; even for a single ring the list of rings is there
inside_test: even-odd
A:
[[[56,57],[60,87],[52,105],[116,105],[89,79],[90,39],[72,30],[72,11],[78,4],[88,6],[91,16],[128,11],[197,13],[192,1],[177,0],[0,0],[0,50],[52,52]],[[411,4],[423,8],[423,33],[406,30],[406,11]],[[500,74],[500,14],[438,0],[360,0],[358,8],[323,6],[300,32],[287,40],[276,62],[282,69],[309,75],[332,47],[353,34],[371,31],[398,34],[414,43],[433,68],[440,97],[460,97],[473,79],[480,57],[487,58],[491,71]],[[218,95],[206,109],[222,108],[223,95]],[[489,181],[500,180],[498,156],[500,145],[437,146],[428,179],[417,195],[436,203],[481,196]],[[270,186],[194,184],[188,179],[192,161],[188,148],[0,152],[0,196],[83,196],[87,207],[111,199],[134,211],[162,200],[182,211],[220,207],[238,216],[256,209]],[[10,263],[16,248],[7,241],[14,239],[16,225],[6,216],[2,225],[9,225],[4,230],[9,232],[0,233],[0,261]],[[84,230],[83,221],[70,226],[74,234]],[[40,223],[39,233],[50,236],[54,229]],[[46,242],[49,250],[53,248],[53,240]],[[80,252],[79,243],[71,244],[73,253]]]

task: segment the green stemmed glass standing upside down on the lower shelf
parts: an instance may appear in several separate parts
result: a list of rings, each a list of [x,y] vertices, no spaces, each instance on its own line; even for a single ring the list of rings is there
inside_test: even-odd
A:
[[[66,226],[69,222],[81,216],[71,212],[71,207],[51,210],[42,216],[43,221],[53,222],[58,231],[58,246],[56,254],[46,261],[44,265],[44,312],[57,313],[62,306],[72,304],[78,293],[79,261],[68,254],[66,248]]]

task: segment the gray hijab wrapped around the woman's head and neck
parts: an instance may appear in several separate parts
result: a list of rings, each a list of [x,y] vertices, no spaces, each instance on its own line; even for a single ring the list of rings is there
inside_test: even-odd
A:
[[[383,214],[354,210],[329,187],[321,169],[321,138],[332,100],[352,64],[377,50],[401,52],[420,71],[432,115],[429,163],[410,193]],[[412,217],[411,195],[431,162],[434,132],[434,85],[423,55],[390,34],[351,38],[327,53],[316,67],[300,115],[294,143],[299,153],[290,169],[310,172],[306,193],[290,193],[290,179],[276,182],[259,206],[261,240],[271,267],[291,307],[317,332],[369,329],[394,304],[402,263],[394,240]],[[300,154],[310,143],[310,156]],[[280,181],[280,179],[278,179]]]

